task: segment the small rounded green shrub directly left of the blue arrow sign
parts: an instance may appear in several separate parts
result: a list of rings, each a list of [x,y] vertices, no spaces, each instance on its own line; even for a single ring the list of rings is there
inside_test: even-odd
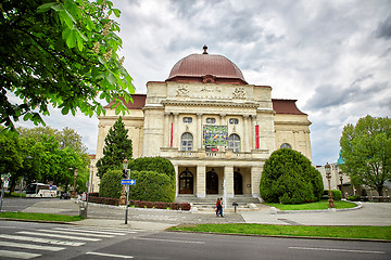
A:
[[[123,185],[121,185],[122,171],[109,170],[99,184],[99,196],[108,198],[119,198]]]

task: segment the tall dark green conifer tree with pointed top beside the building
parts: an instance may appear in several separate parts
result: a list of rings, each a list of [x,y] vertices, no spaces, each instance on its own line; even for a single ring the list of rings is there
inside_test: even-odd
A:
[[[109,170],[122,169],[122,161],[125,158],[131,158],[131,140],[128,139],[127,133],[128,130],[125,129],[122,117],[119,117],[104,139],[103,157],[97,162],[99,178],[102,178]]]

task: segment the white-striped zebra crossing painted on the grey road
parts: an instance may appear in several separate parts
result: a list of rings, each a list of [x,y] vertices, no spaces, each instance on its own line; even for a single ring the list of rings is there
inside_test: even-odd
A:
[[[45,251],[56,252],[86,243],[96,243],[104,238],[135,234],[138,231],[110,227],[51,227],[28,231],[15,231],[14,234],[0,234],[0,260],[34,259]]]

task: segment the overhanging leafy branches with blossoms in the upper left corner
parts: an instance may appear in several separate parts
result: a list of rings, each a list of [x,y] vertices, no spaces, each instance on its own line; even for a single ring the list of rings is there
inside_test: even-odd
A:
[[[45,125],[48,106],[91,117],[100,100],[131,101],[131,77],[117,55],[119,10],[108,0],[2,0],[0,3],[0,123],[23,118]]]

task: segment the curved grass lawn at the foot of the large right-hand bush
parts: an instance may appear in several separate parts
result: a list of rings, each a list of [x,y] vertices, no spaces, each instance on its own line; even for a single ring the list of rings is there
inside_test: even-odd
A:
[[[311,203],[311,204],[298,204],[298,205],[288,205],[288,204],[265,204],[270,207],[276,207],[280,210],[316,210],[316,209],[328,209],[328,200],[321,199],[320,202]],[[342,208],[354,208],[357,205],[354,203],[348,203],[342,200],[335,202],[335,207],[337,209]]]

